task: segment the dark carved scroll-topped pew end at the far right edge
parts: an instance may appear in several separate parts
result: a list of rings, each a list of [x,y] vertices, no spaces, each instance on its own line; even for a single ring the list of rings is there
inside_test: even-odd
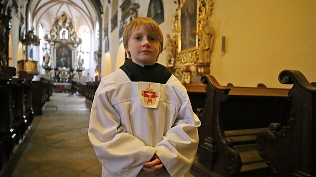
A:
[[[259,154],[273,176],[316,176],[316,86],[297,70],[281,71],[279,81],[293,84],[291,115],[258,134]]]

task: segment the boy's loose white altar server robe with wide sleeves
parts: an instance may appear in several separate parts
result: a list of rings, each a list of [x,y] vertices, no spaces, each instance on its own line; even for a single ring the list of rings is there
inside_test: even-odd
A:
[[[201,122],[186,88],[172,75],[161,84],[158,107],[141,106],[137,82],[121,69],[102,78],[91,108],[88,135],[102,163],[102,176],[187,176]],[[156,153],[166,169],[143,172]]]

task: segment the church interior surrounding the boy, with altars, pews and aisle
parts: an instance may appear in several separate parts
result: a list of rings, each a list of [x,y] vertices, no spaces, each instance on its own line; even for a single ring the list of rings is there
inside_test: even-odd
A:
[[[316,176],[315,0],[0,0],[0,177],[101,176],[87,128],[137,17],[201,120],[189,176]],[[68,151],[67,151],[68,150]],[[80,167],[79,167],[80,166]]]

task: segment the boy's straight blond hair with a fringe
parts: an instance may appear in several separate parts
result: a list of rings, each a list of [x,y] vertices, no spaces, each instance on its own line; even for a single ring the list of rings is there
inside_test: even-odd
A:
[[[151,32],[154,35],[154,37],[156,37],[157,40],[160,42],[160,48],[159,48],[159,54],[160,54],[164,48],[163,32],[160,29],[159,25],[153,19],[151,19],[149,17],[138,17],[126,25],[126,27],[123,31],[123,44],[124,44],[125,50],[127,48],[129,37],[130,37],[131,33],[133,32],[133,30],[135,30],[141,24],[143,24],[145,29],[148,30],[149,32]],[[128,54],[128,57],[131,58],[129,51],[127,52],[127,54]],[[158,56],[159,56],[159,54],[158,54]],[[158,59],[158,56],[156,58],[156,61]]]

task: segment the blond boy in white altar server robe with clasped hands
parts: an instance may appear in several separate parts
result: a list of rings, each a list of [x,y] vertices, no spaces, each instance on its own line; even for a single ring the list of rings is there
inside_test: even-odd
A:
[[[102,176],[189,174],[201,122],[185,87],[156,63],[163,42],[151,18],[136,18],[124,29],[129,58],[102,78],[91,108],[88,135]]]

